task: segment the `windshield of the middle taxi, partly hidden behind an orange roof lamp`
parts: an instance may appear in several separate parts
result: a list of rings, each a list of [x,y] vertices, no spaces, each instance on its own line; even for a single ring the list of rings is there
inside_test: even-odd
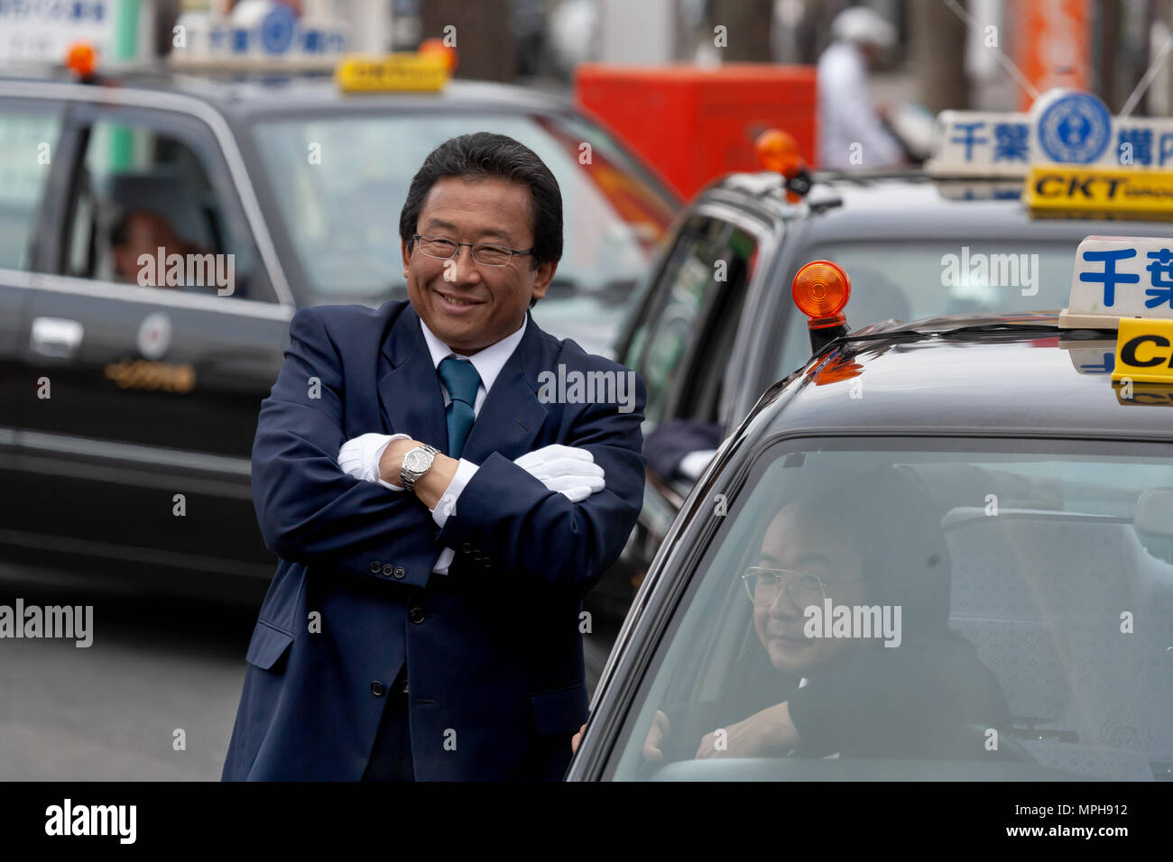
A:
[[[1076,245],[964,239],[827,243],[812,245],[796,266],[811,260],[842,266],[852,279],[847,321],[860,328],[888,318],[1058,311],[1066,306],[1071,292]],[[774,379],[800,368],[809,358],[806,318],[791,313],[774,359]]]

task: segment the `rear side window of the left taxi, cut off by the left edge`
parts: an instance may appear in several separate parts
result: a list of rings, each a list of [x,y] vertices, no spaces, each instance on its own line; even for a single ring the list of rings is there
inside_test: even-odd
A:
[[[28,270],[60,108],[0,102],[0,266]]]

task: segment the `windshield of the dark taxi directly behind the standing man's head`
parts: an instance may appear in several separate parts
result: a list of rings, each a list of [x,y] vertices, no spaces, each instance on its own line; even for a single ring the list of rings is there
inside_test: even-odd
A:
[[[407,186],[436,145],[472,131],[521,141],[558,181],[564,252],[535,314],[565,313],[555,307],[560,304],[622,304],[676,202],[597,127],[572,115],[489,113],[340,114],[256,123],[278,210],[316,298],[406,297],[399,213]]]

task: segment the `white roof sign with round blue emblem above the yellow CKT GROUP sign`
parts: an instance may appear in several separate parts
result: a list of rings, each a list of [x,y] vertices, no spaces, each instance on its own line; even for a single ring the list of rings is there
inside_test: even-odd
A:
[[[1029,113],[947,110],[937,117],[937,177],[1025,177],[1035,165],[1173,171],[1173,118],[1113,117],[1090,93],[1053,89]]]

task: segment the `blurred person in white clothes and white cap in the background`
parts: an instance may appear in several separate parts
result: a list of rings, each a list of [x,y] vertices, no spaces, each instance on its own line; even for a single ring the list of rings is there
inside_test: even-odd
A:
[[[819,57],[819,163],[823,168],[889,168],[904,150],[868,95],[868,70],[896,42],[896,28],[866,6],[843,9],[834,41]],[[859,144],[859,147],[855,147]]]

